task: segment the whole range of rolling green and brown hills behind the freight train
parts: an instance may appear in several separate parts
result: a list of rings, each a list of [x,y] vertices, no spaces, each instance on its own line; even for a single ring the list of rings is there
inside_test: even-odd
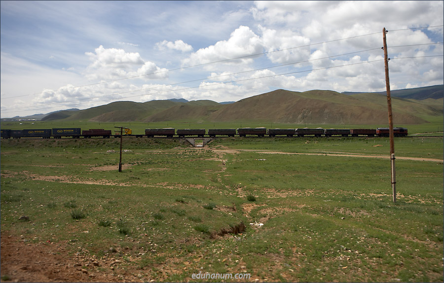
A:
[[[405,99],[392,97],[396,123],[422,124],[443,116],[443,98]],[[232,104],[209,100],[158,100],[145,103],[114,102],[74,112],[58,112],[46,120],[95,122],[236,122],[255,121],[296,124],[386,124],[385,94],[343,94],[330,90],[295,92],[275,90]]]

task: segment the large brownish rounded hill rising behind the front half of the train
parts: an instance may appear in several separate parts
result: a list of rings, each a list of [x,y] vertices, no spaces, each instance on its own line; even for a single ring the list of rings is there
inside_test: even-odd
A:
[[[315,90],[300,93],[276,90],[228,105],[212,113],[209,120],[255,120],[296,124],[386,123],[386,98],[382,95],[375,96],[366,101],[333,91]],[[396,98],[392,99],[392,104],[397,105]],[[410,104],[415,105],[413,102],[408,105]],[[394,112],[395,121],[405,124],[425,122],[424,119],[401,109]]]

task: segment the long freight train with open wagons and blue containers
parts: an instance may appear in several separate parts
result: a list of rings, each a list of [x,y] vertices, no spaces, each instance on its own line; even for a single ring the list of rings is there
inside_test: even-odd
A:
[[[407,128],[397,127],[393,128],[395,137],[407,137]],[[146,129],[145,135],[133,135],[130,129],[126,129],[122,137],[136,137],[136,138],[153,138],[153,137],[167,137],[173,138],[178,136],[179,138],[185,138],[185,136],[194,136],[203,138],[205,136],[210,137],[247,137],[247,136],[258,136],[258,137],[276,137],[276,136],[287,136],[287,137],[388,137],[389,128],[377,128],[377,129],[323,129],[323,128],[296,128],[296,129],[266,129],[264,127],[259,128],[239,128],[239,129],[209,129],[208,134],[205,129],[178,129],[174,128],[163,128],[163,129]],[[2,139],[20,139],[20,138],[43,138],[43,139],[61,139],[61,138],[119,138],[120,133],[116,132],[112,135],[111,130],[105,129],[89,129],[81,130],[80,128],[53,128],[53,129],[25,129],[25,130],[0,130],[0,137]]]

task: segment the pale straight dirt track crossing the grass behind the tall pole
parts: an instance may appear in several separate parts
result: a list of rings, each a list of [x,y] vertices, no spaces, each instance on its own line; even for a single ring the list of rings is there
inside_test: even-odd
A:
[[[294,154],[294,155],[324,155],[324,156],[347,156],[347,157],[364,157],[364,158],[384,158],[390,159],[390,155],[376,155],[376,154],[357,154],[357,153],[297,153],[297,152],[282,152],[282,151],[270,151],[261,149],[213,149],[214,152],[224,152],[234,154],[241,151],[260,152],[265,154]],[[443,162],[442,159],[435,158],[422,158],[422,157],[403,157],[396,156],[396,159],[413,160],[413,161],[429,161],[429,162]]]

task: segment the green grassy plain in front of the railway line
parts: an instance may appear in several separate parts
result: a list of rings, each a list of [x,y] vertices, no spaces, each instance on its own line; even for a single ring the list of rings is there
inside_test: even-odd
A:
[[[365,156],[388,155],[385,138],[123,149],[119,173],[117,139],[2,140],[2,236],[66,243],[116,281],[443,282],[442,137],[396,139],[398,157],[430,159],[396,160],[396,204],[390,160]]]

